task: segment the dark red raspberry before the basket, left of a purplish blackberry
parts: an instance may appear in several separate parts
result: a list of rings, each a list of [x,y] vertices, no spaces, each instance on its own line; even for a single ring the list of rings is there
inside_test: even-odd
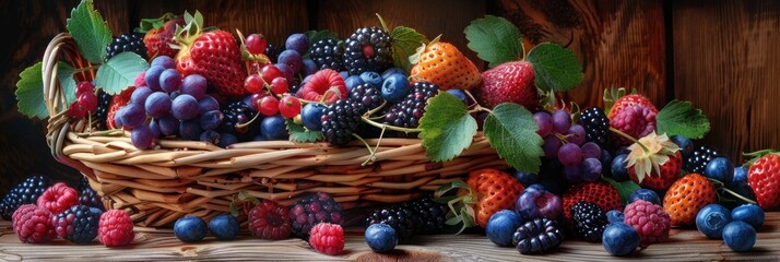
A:
[[[263,200],[249,211],[249,230],[263,239],[285,239],[293,231],[289,210]]]

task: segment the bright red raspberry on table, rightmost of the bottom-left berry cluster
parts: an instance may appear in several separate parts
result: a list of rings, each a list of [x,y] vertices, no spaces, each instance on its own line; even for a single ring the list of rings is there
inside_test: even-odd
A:
[[[110,210],[101,215],[97,238],[106,247],[119,247],[132,242],[135,238],[132,219],[123,210]]]

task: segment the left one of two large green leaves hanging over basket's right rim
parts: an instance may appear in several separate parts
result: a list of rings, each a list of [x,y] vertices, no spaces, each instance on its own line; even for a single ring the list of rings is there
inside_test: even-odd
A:
[[[428,100],[419,119],[418,136],[425,155],[434,162],[447,162],[469,148],[476,134],[476,120],[457,96],[439,92]]]

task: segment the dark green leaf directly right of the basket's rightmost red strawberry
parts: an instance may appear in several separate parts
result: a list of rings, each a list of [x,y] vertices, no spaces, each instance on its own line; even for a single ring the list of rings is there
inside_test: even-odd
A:
[[[558,44],[542,43],[528,53],[533,64],[536,87],[543,91],[563,92],[582,82],[582,64],[571,50]]]

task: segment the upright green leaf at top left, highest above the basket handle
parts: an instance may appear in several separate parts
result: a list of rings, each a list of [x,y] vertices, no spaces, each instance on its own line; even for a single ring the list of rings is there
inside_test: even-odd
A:
[[[92,0],[82,0],[70,12],[68,32],[73,36],[81,55],[92,63],[102,63],[106,57],[106,46],[111,43],[111,29],[95,11]]]

